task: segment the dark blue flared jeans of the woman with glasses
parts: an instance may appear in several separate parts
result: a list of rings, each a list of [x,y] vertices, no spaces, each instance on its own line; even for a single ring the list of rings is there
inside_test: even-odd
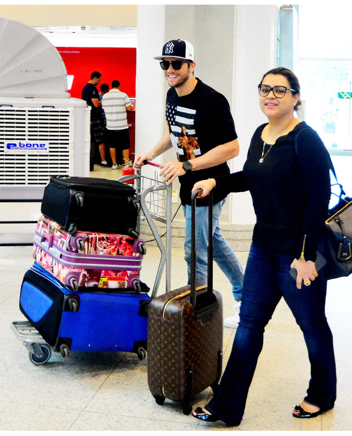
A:
[[[219,391],[206,406],[229,425],[238,425],[242,419],[264,329],[281,297],[300,326],[308,349],[311,379],[305,401],[322,410],[334,405],[336,369],[332,334],[325,317],[326,280],[320,274],[310,286],[297,289],[296,280],[289,274],[293,259],[292,254],[251,245],[232,351]]]

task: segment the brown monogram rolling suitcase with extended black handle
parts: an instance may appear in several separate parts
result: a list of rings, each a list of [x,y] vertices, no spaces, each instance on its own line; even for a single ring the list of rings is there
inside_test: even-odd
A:
[[[213,291],[212,194],[209,199],[208,286],[196,288],[195,197],[192,194],[192,284],[155,298],[148,308],[148,386],[157,404],[183,404],[211,386],[222,370],[222,297]]]

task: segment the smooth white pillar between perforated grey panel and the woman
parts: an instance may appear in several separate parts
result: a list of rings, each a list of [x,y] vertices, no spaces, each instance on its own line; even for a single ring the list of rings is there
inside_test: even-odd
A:
[[[267,122],[259,109],[257,84],[277,62],[277,6],[237,6],[234,120],[240,146],[232,171],[240,171],[256,127]],[[232,194],[231,224],[254,224],[249,192]]]

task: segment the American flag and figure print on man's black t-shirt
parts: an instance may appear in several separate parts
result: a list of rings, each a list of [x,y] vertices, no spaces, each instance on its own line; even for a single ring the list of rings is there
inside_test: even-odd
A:
[[[173,150],[178,161],[189,161],[201,156],[201,149],[195,136],[195,109],[166,103],[166,124],[170,133]]]

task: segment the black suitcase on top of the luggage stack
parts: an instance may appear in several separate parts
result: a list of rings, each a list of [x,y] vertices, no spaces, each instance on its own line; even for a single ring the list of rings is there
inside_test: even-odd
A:
[[[83,230],[139,236],[136,191],[116,180],[51,177],[44,190],[41,211],[71,235]]]

